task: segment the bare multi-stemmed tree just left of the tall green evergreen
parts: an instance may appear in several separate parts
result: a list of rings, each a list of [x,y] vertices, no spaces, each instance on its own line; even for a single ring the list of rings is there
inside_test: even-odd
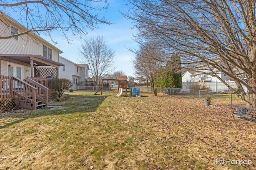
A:
[[[155,43],[148,43],[145,46],[141,46],[140,50],[134,51],[136,56],[132,63],[135,74],[146,75],[147,80],[150,80],[154,95],[157,96],[157,89],[163,76],[164,67],[163,62],[157,59],[160,56],[160,51],[154,47],[155,45]]]

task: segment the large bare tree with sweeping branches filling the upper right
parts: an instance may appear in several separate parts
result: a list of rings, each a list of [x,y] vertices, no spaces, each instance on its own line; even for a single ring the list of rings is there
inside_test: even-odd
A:
[[[124,15],[138,29],[137,41],[158,41],[166,53],[178,53],[184,67],[198,71],[196,65],[204,66],[201,72],[216,76],[256,108],[255,0],[128,2],[133,6]],[[218,71],[230,76],[238,90],[222,80]]]

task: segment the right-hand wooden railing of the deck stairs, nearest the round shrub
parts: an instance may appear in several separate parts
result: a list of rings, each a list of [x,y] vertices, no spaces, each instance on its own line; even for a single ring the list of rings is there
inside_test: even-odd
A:
[[[31,79],[31,78],[25,78],[26,82],[28,82],[28,84],[32,85],[33,87],[35,87],[37,89],[37,94],[36,94],[36,98],[38,100],[41,100],[42,102],[44,102],[46,104],[46,106],[48,105],[48,88],[46,86],[43,86],[42,84],[36,82],[35,80]],[[45,99],[38,96],[40,95],[40,88],[43,90],[45,96]]]

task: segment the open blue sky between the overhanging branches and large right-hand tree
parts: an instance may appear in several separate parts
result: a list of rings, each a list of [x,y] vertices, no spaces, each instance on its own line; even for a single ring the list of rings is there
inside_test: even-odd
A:
[[[98,25],[99,28],[92,31],[88,29],[88,35],[82,37],[82,39],[80,39],[80,35],[70,36],[72,39],[71,44],[68,44],[67,41],[64,40],[61,33],[54,32],[53,37],[58,41],[58,44],[55,46],[63,51],[63,53],[60,54],[62,57],[77,63],[79,53],[78,48],[81,48],[81,42],[83,39],[102,35],[104,40],[108,43],[108,46],[115,51],[116,70],[124,71],[127,76],[134,76],[134,70],[131,62],[134,54],[129,52],[126,47],[137,48],[137,43],[132,40],[132,33],[135,34],[136,32],[130,28],[133,26],[131,21],[127,20],[119,13],[119,10],[127,10],[128,7],[124,5],[125,2],[122,0],[108,0],[108,2],[110,4],[110,8],[105,13],[105,17],[106,20],[114,22],[113,24]],[[50,41],[49,37],[42,35],[41,37]]]

